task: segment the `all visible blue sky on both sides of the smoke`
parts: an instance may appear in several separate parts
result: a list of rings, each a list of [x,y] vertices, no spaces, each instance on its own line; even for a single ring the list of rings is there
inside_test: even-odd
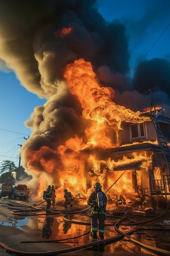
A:
[[[130,72],[147,52],[147,60],[165,58],[170,61],[169,10],[169,1],[99,1],[99,12],[108,22],[117,19],[126,27]],[[40,99],[24,88],[15,73],[7,68],[5,62],[0,61],[0,163],[11,160],[18,167],[18,144],[24,144],[24,137],[31,135],[31,129],[26,128],[24,122],[29,119],[35,107],[43,106],[45,102],[46,99]]]

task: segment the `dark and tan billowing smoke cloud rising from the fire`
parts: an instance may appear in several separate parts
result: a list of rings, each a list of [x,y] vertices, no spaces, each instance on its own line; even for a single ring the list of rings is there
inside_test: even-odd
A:
[[[131,110],[150,106],[150,99],[144,97],[149,88],[159,95],[155,104],[166,107],[170,103],[170,75],[158,84],[170,63],[142,61],[130,79],[126,27],[118,20],[106,22],[98,7],[97,0],[0,1],[0,63],[5,61],[29,92],[47,99],[25,122],[33,132],[22,146],[23,166],[35,176],[43,171],[53,174],[51,182],[58,182],[65,168],[62,153],[67,159],[72,155],[75,162],[81,158],[76,153],[79,147],[70,148],[68,141],[76,137],[85,147],[85,131],[91,122],[82,117],[79,100],[68,90],[66,65],[79,58],[91,62],[99,83],[115,90],[113,101]],[[75,165],[75,171],[82,168]]]

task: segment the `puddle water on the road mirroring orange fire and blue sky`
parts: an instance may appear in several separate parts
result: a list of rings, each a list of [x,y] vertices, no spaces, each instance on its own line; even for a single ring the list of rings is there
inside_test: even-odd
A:
[[[77,247],[79,245],[84,245],[87,243],[91,243],[90,234],[88,233],[90,231],[91,226],[90,224],[90,218],[88,216],[83,216],[83,219],[78,216],[74,218],[74,216],[71,216],[72,219],[76,222],[87,222],[88,225],[80,225],[75,224],[71,222],[65,222],[63,220],[63,216],[32,216],[31,218],[22,218],[17,219],[17,217],[10,218],[12,220],[11,223],[8,222],[0,222],[0,224],[4,226],[15,226],[19,229],[24,229],[24,226],[28,226],[29,228],[36,230],[37,234],[37,241],[50,241],[50,240],[63,240],[60,241],[62,243],[67,243],[71,247]],[[79,218],[80,217],[80,218]],[[111,220],[110,223],[115,222],[115,220]],[[128,231],[128,230],[126,230]],[[40,232],[40,233],[39,233]],[[87,234],[88,233],[88,234]],[[118,234],[114,230],[114,223],[113,226],[106,226],[105,227],[105,238],[111,238],[115,237]],[[141,243],[146,243],[152,246],[155,246],[155,241],[144,241],[142,240],[141,235],[132,235],[132,238],[137,239]],[[31,241],[31,239],[30,239]],[[148,253],[150,255],[152,254],[142,248],[139,248],[138,246],[135,246],[129,242],[126,241],[119,241],[116,243],[112,243],[110,245],[106,245],[105,247],[102,247],[101,252],[105,253],[114,253],[124,251],[126,252],[142,252],[142,253]]]

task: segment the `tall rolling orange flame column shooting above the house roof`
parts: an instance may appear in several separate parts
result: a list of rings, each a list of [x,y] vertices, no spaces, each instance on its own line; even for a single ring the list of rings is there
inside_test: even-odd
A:
[[[112,99],[115,91],[110,87],[100,87],[96,74],[90,62],[83,58],[68,64],[64,73],[68,88],[75,94],[84,109],[83,117],[96,121],[98,125],[116,125],[121,129],[122,121],[149,121],[148,117],[141,117],[141,112],[133,112],[124,106],[116,105]]]

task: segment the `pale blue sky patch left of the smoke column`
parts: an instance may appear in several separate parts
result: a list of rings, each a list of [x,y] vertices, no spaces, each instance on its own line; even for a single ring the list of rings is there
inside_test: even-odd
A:
[[[15,76],[14,72],[0,72],[0,163],[13,161],[18,167],[20,146],[31,135],[26,128],[26,121],[36,106],[43,105],[46,100],[39,99],[36,94],[28,92]]]

